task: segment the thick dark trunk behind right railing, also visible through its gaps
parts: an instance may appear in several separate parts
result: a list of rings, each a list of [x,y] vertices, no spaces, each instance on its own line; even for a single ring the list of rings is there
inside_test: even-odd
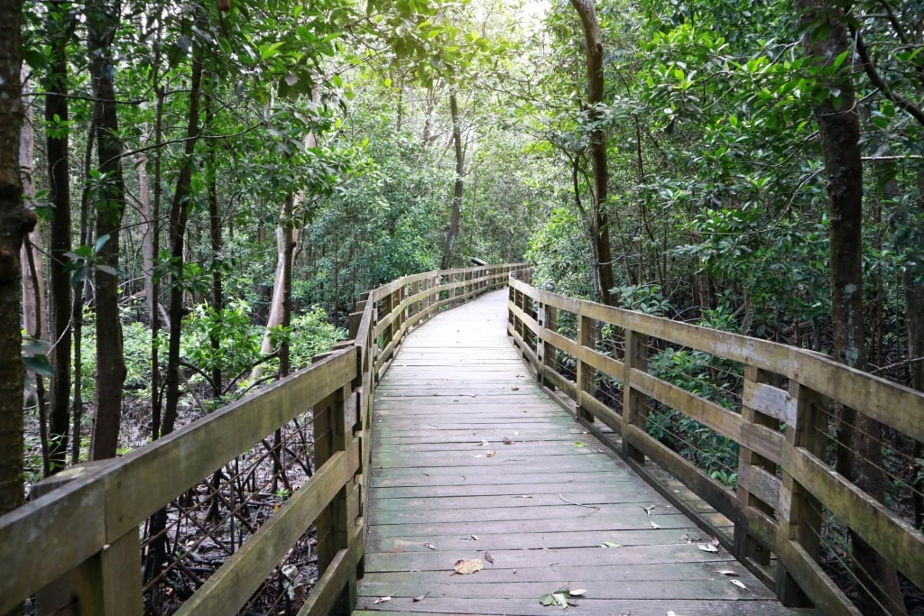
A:
[[[803,46],[808,57],[830,62],[850,49],[843,12],[828,0],[798,0]],[[815,108],[828,177],[828,211],[831,220],[829,260],[833,357],[852,368],[866,369],[863,328],[863,267],[861,262],[863,164],[859,146],[860,124],[854,91],[853,68],[845,62],[836,75],[821,84],[839,91]],[[842,406],[837,420],[837,471],[878,501],[886,479],[881,471],[881,426],[856,410]],[[869,544],[850,533],[854,574],[860,583],[859,608],[864,614],[904,614],[898,577]]]

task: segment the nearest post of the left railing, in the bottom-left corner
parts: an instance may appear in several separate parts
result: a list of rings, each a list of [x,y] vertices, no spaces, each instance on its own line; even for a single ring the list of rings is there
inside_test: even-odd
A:
[[[112,462],[115,458],[71,466],[35,484],[31,498],[48,494]],[[106,498],[118,498],[118,495],[107,494]],[[104,513],[100,512],[100,515]],[[63,613],[140,616],[143,611],[140,562],[138,532],[133,530],[117,537],[102,551],[37,592],[35,613],[37,616]]]

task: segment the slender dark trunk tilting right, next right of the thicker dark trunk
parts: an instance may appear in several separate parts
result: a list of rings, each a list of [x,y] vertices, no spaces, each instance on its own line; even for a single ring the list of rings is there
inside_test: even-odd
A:
[[[170,434],[176,425],[176,409],[179,405],[179,342],[183,321],[183,266],[184,239],[189,214],[189,198],[192,192],[192,172],[195,169],[193,154],[199,140],[199,103],[202,85],[202,54],[196,45],[192,54],[192,77],[189,84],[189,115],[186,131],[186,148],[183,166],[176,177],[174,198],[170,203],[170,341],[167,348],[166,405],[164,425],[161,434]]]

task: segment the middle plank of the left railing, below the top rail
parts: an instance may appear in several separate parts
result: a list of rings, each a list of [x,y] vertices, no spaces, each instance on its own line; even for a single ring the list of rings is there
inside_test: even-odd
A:
[[[359,468],[359,439],[346,452],[334,453],[291,499],[286,501],[215,574],[176,611],[188,614],[235,613],[311,523],[334,500]]]

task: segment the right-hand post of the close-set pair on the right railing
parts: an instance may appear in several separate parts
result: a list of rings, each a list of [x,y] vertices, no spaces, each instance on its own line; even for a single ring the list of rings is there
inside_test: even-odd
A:
[[[828,405],[827,399],[796,380],[790,380],[789,401],[795,409],[789,412],[791,421],[784,432],[784,448],[803,447],[809,453],[823,457],[827,418],[821,409]],[[821,551],[821,502],[790,476],[785,468],[778,509],[780,519],[777,543],[796,542],[809,558],[817,560]],[[776,577],[777,598],[785,606],[811,607],[811,601],[802,588],[785,570],[782,559],[780,564]]]

